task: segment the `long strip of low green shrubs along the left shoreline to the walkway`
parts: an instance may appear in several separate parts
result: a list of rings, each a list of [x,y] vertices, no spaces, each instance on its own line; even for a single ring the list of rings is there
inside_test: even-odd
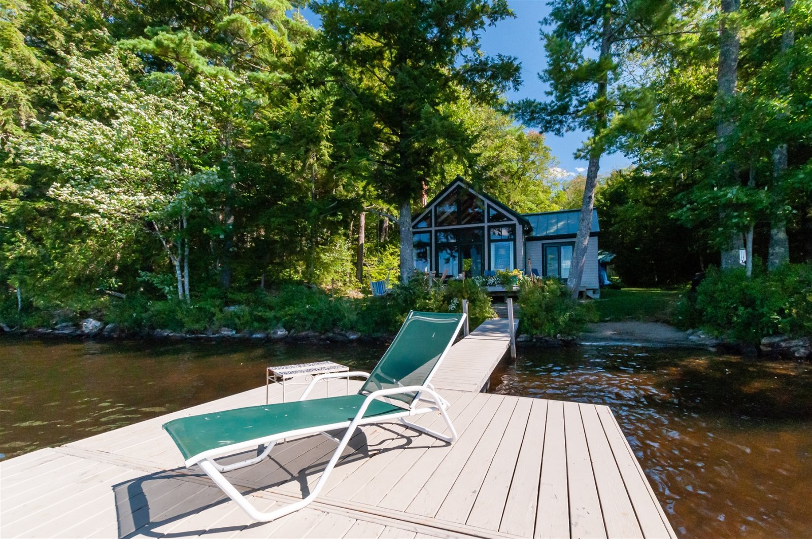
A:
[[[89,296],[81,304],[26,304],[22,313],[16,312],[15,298],[3,298],[0,314],[6,323],[22,327],[49,327],[58,321],[95,316],[131,331],[205,333],[229,327],[241,332],[283,326],[289,331],[326,333],[338,328],[367,335],[397,331],[411,309],[460,313],[461,300],[469,300],[472,328],[494,316],[486,291],[472,279],[434,282],[429,287],[422,274],[406,284],[395,283],[384,297],[333,295],[301,283],[248,293],[226,293],[213,287],[193,297],[191,304],[171,297],[158,299],[162,295],[161,291],[148,291],[126,299]]]

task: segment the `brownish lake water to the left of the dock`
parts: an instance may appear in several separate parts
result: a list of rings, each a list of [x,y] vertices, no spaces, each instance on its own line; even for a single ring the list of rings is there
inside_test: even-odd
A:
[[[274,364],[369,369],[382,347],[0,339],[0,453],[22,455],[265,383]]]

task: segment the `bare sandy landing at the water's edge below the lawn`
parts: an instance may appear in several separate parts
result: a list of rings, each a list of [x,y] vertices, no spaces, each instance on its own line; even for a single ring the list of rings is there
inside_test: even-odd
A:
[[[713,338],[702,338],[658,322],[599,322],[590,324],[578,337],[581,344],[645,344],[661,347],[709,347]]]

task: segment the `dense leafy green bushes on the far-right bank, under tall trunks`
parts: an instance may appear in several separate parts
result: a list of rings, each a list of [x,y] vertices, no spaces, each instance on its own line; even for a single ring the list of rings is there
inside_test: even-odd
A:
[[[812,336],[812,265],[788,264],[767,273],[711,268],[677,308],[683,328],[702,327],[719,337],[758,344],[771,334]]]

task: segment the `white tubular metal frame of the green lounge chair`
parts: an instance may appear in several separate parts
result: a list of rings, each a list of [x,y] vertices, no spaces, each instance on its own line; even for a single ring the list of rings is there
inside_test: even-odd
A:
[[[410,313],[410,316],[411,314],[412,313]],[[456,335],[459,334],[460,328],[463,326],[464,320],[465,316],[463,315],[462,317],[460,317],[460,321],[456,327],[456,331],[454,333],[455,338]],[[454,429],[454,425],[451,424],[451,418],[448,416],[447,413],[447,408],[450,406],[450,404],[447,402],[447,400],[443,399],[443,397],[438,395],[437,391],[434,389],[434,386],[432,386],[430,383],[431,377],[434,376],[434,373],[437,371],[439,365],[443,363],[443,359],[445,359],[445,356],[447,356],[448,350],[451,348],[451,345],[453,344],[454,340],[455,340],[454,338],[451,338],[451,341],[447,344],[442,354],[439,356],[439,359],[436,361],[436,363],[430,370],[429,375],[425,378],[425,382],[422,385],[390,387],[370,392],[368,395],[366,395],[364,402],[361,404],[361,407],[359,407],[358,411],[356,412],[356,415],[352,418],[352,420],[341,421],[330,425],[317,425],[304,429],[294,429],[283,433],[275,433],[270,436],[262,436],[260,438],[234,443],[228,446],[217,447],[209,451],[203,451],[197,455],[190,456],[188,459],[185,460],[185,464],[187,468],[191,467],[194,464],[200,465],[203,472],[205,472],[205,474],[209,476],[212,481],[214,481],[214,484],[218,485],[218,487],[220,487],[220,489],[222,489],[222,491],[225,494],[227,494],[227,496],[231,498],[253,520],[267,522],[270,520],[278,519],[279,517],[282,517],[284,515],[289,515],[294,511],[299,511],[301,508],[306,507],[310,502],[313,502],[313,499],[317,497],[319,492],[321,492],[322,488],[324,487],[327,479],[330,476],[330,472],[332,472],[333,468],[335,468],[335,464],[338,462],[339,458],[341,457],[341,454],[347,447],[350,439],[355,434],[356,429],[358,429],[362,425],[382,423],[390,420],[400,420],[400,422],[406,425],[409,429],[415,429],[421,433],[425,433],[430,436],[433,436],[434,438],[443,440],[444,442],[449,443],[456,442],[457,439],[456,429]],[[304,393],[301,395],[299,400],[301,401],[307,399],[307,396],[310,394],[310,391],[313,390],[313,387],[316,386],[316,384],[318,382],[321,382],[322,380],[342,377],[369,378],[369,376],[370,376],[369,373],[361,371],[353,371],[349,373],[328,373],[318,375],[316,377],[313,377],[313,380],[310,382],[307,389],[304,390]],[[393,395],[404,395],[404,394],[415,394],[415,396],[412,399],[412,402],[409,404],[409,407],[403,408],[403,412],[387,413],[385,415],[370,416],[370,417],[364,416],[367,408],[369,407],[369,404],[373,403],[376,399],[383,399],[386,397],[391,397]],[[425,403],[429,403],[430,405],[425,406]],[[420,416],[422,414],[430,412],[439,412],[440,415],[443,416],[443,420],[445,421],[447,427],[448,435],[438,433],[434,430],[427,429],[421,425],[416,425],[406,420],[407,417]],[[346,431],[344,432],[343,437],[340,439],[334,438],[329,433],[327,433],[327,431],[330,430],[344,428],[346,428]],[[248,502],[248,499],[246,499],[243,494],[240,494],[240,492],[237,489],[235,489],[234,485],[231,485],[231,482],[229,482],[227,478],[222,475],[224,472],[230,472],[231,470],[245,468],[246,466],[257,464],[261,462],[261,460],[266,459],[266,457],[270,455],[271,450],[273,450],[274,445],[277,442],[279,442],[279,440],[315,433],[321,433],[327,438],[330,438],[335,442],[338,442],[338,446],[335,448],[333,455],[330,457],[330,462],[327,463],[326,467],[324,468],[324,471],[322,472],[322,476],[319,477],[316,485],[313,487],[313,489],[305,498],[302,498],[298,502],[293,502],[285,507],[280,507],[275,511],[270,512],[257,511],[257,509],[253,507],[253,505],[251,505],[250,502]],[[254,457],[252,459],[247,459],[235,464],[227,464],[227,465],[221,465],[214,461],[214,459],[217,457],[231,455],[248,448],[262,445],[266,445],[265,449],[261,452],[260,455],[257,455],[257,457]]]

